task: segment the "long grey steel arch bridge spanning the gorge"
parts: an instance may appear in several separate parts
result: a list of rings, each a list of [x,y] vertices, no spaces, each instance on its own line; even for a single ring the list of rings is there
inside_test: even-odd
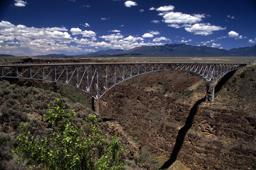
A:
[[[84,91],[97,101],[112,87],[134,76],[161,70],[183,70],[207,83],[207,100],[214,101],[214,86],[230,71],[247,63],[17,63],[0,64],[0,77],[46,80]]]

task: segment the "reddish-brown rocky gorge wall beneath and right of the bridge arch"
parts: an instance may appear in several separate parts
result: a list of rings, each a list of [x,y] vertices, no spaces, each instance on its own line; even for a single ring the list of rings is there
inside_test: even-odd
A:
[[[205,83],[197,76],[180,71],[145,74],[112,88],[101,100],[101,113],[122,126],[137,145],[133,150],[126,146],[127,152],[136,160],[142,155],[138,164],[146,169],[159,168],[174,156],[180,140],[177,160],[188,168],[255,169],[256,72],[252,70],[241,70],[246,71],[245,78],[237,71],[214,103],[197,103],[205,96]],[[187,127],[188,121],[192,127]]]

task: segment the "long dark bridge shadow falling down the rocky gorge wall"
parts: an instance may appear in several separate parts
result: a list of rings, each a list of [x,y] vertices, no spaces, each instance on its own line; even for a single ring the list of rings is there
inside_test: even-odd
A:
[[[234,71],[230,71],[229,73],[227,73],[217,84],[217,86],[215,87],[215,92],[217,93],[218,91],[221,90],[221,88],[224,86],[224,84],[229,80],[230,77],[232,77],[232,75],[236,72],[236,70]],[[185,125],[179,130],[177,137],[176,137],[176,142],[174,145],[174,148],[172,150],[172,154],[170,156],[170,159],[167,160],[167,162],[165,162],[162,167],[160,169],[167,169],[168,167],[170,167],[175,160],[177,159],[177,155],[180,152],[181,146],[183,145],[184,139],[185,139],[185,135],[187,134],[188,130],[192,127],[193,124],[193,118],[196,115],[197,112],[197,108],[199,107],[199,105],[201,103],[203,103],[206,100],[206,96],[203,97],[202,99],[199,99],[196,101],[196,103],[193,105],[193,107],[190,109],[189,111],[189,115],[185,121]]]

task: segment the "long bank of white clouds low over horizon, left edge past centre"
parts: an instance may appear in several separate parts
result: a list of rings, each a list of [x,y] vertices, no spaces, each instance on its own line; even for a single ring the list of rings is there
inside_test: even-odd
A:
[[[0,52],[16,56],[37,56],[39,54],[81,54],[96,49],[130,49],[142,45],[163,45],[164,37],[152,42],[144,42],[143,37],[129,35],[123,37],[119,30],[113,34],[96,37],[93,31],[81,28],[65,27],[36,28],[26,25],[14,25],[7,21],[0,22]],[[148,31],[146,35],[154,37],[158,31]],[[101,39],[104,39],[103,41]]]

